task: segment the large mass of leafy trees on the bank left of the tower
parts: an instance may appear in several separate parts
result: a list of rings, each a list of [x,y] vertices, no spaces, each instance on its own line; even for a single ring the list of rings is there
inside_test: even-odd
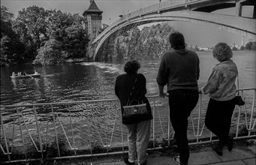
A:
[[[89,37],[82,26],[84,18],[77,13],[45,10],[34,5],[20,10],[16,20],[11,19],[14,14],[2,6],[1,65],[19,60],[47,65],[63,62],[63,58],[86,57]]]

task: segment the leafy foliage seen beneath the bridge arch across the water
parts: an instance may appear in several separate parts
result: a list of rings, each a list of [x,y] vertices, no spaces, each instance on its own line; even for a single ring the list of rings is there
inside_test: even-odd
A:
[[[122,63],[131,59],[140,62],[153,62],[170,49],[168,36],[173,32],[168,23],[161,23],[150,27],[133,27],[128,30],[121,28],[115,35],[111,35],[101,46],[98,54],[112,57],[113,62]],[[116,36],[116,37],[114,37]],[[98,57],[98,61],[104,61]]]

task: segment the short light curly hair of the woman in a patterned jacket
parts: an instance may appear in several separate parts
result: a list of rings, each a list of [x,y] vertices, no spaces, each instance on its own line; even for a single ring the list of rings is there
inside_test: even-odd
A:
[[[217,43],[212,50],[212,55],[218,62],[224,62],[232,58],[233,52],[227,43]]]

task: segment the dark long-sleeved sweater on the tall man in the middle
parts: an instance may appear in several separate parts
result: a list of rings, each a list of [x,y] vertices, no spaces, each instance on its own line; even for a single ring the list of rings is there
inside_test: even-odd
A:
[[[199,58],[197,53],[187,49],[165,52],[161,58],[157,83],[167,85],[167,92],[176,89],[198,90]]]

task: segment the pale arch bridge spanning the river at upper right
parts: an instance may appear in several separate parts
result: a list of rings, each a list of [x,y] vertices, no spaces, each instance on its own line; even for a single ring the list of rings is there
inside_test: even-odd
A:
[[[254,6],[253,17],[242,17],[242,6]],[[211,13],[228,7],[236,8],[236,15]],[[212,26],[225,31],[240,34],[242,37],[256,39],[256,1],[255,0],[169,0],[156,5],[140,8],[128,13],[108,26],[89,47],[89,55],[95,60],[101,45],[121,28],[141,26],[147,23],[164,21],[183,21]]]

